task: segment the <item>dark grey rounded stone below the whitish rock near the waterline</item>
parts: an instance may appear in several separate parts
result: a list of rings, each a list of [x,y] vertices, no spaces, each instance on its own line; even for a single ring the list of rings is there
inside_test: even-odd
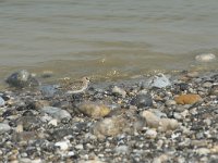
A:
[[[137,108],[152,106],[153,99],[148,93],[140,93],[131,101],[131,104],[136,105]]]

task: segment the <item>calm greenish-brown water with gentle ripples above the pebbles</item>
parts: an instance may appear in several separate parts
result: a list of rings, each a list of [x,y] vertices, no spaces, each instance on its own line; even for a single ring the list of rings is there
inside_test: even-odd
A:
[[[0,77],[129,76],[218,53],[217,0],[0,0]]]

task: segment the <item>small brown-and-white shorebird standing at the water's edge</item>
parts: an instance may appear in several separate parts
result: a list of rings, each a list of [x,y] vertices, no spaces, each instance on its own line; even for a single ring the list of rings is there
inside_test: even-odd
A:
[[[84,92],[88,88],[89,78],[83,77],[81,80],[66,83],[65,89],[66,93],[74,95]]]

